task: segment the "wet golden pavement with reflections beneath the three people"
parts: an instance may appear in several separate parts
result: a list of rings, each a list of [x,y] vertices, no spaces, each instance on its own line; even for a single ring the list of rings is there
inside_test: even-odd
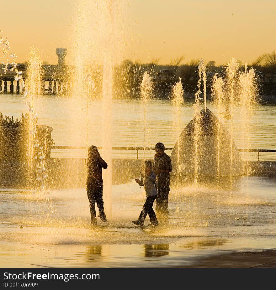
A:
[[[85,188],[0,189],[1,267],[205,267],[236,251],[275,249],[275,181],[234,184],[231,192],[211,184],[172,186],[169,218],[154,229],[131,223],[144,202],[133,183],[113,186],[113,215],[95,228]]]

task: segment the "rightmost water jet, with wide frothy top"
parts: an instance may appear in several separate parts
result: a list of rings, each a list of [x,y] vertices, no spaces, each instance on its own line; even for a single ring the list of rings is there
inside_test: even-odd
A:
[[[245,152],[245,158],[243,162],[243,173],[248,176],[250,174],[249,167],[249,149],[250,149],[250,127],[251,117],[253,113],[253,106],[256,101],[256,89],[254,86],[255,72],[253,69],[240,75],[241,86],[241,112],[242,112],[242,149]]]

